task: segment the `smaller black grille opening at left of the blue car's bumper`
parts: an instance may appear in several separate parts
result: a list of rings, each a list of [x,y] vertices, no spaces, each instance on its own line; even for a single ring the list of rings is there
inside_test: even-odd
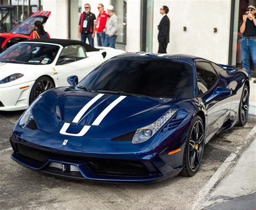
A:
[[[19,157],[30,160],[31,162],[42,164],[46,163],[49,159],[49,156],[45,153],[37,149],[30,148],[29,146],[25,146],[23,144],[16,144],[16,148],[17,155]]]

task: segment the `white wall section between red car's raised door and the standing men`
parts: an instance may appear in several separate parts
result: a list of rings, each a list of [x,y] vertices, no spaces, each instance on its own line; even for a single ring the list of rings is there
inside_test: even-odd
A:
[[[43,10],[51,11],[51,15],[45,24],[45,31],[51,38],[68,39],[68,1],[44,0]]]

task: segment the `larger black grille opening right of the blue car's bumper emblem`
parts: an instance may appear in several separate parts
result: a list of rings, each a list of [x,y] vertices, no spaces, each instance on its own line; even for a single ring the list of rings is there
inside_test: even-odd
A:
[[[143,176],[149,174],[139,162],[126,160],[90,160],[87,166],[95,173],[119,176]]]

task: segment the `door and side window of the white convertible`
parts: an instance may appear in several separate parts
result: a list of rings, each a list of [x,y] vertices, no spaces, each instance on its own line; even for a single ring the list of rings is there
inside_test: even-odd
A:
[[[66,78],[77,75],[78,81],[82,80],[98,64],[103,61],[102,55],[87,57],[82,45],[70,45],[63,48],[56,64],[59,86],[69,86]]]

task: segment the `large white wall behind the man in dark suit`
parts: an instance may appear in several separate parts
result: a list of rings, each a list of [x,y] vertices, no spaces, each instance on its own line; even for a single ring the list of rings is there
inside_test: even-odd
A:
[[[157,26],[159,9],[166,5],[170,11],[170,43],[167,53],[198,55],[217,63],[228,63],[231,0],[155,0],[153,19],[153,52],[158,51]],[[183,27],[187,31],[183,31]],[[213,28],[218,32],[214,33]]]

